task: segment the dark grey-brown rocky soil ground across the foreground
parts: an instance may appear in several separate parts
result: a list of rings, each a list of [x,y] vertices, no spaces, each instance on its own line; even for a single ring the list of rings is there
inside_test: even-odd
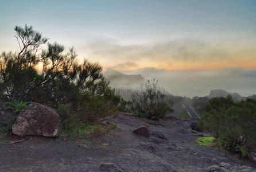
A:
[[[208,136],[193,120],[152,123],[121,113],[107,136],[96,139],[11,136],[0,139],[0,171],[256,171],[256,164],[195,140]],[[135,134],[148,127],[150,137]],[[11,141],[24,142],[10,144]]]

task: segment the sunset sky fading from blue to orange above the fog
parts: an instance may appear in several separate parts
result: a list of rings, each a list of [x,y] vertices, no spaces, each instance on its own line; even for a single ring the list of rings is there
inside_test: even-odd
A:
[[[32,25],[119,71],[256,69],[256,1],[3,1],[0,52]]]

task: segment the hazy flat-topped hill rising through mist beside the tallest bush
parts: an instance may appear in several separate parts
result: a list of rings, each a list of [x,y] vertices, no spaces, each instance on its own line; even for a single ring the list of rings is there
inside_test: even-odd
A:
[[[144,78],[141,75],[127,75],[125,73],[115,71],[112,68],[107,68],[106,72],[104,72],[104,76],[107,80],[110,80],[111,87],[130,87],[135,84],[144,83]]]

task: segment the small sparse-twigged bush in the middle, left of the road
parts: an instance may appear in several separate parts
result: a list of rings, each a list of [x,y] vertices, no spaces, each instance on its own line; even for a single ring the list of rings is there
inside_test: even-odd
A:
[[[130,109],[136,116],[158,120],[173,112],[170,108],[172,104],[172,101],[167,100],[158,90],[157,81],[148,80],[145,87],[141,85],[141,90],[131,95]]]

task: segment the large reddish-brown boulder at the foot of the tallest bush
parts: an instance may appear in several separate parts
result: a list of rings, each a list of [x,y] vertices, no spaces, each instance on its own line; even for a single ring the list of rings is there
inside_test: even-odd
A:
[[[13,134],[59,136],[60,116],[55,110],[39,103],[30,103],[17,117]]]

